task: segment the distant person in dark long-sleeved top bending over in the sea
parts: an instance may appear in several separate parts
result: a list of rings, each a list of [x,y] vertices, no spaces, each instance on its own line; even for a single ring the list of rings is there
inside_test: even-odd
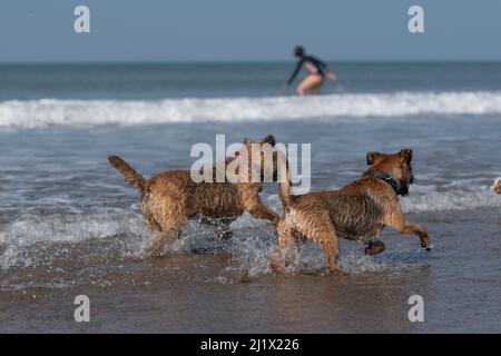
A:
[[[312,95],[320,93],[325,78],[336,80],[334,72],[327,71],[327,66],[323,61],[313,56],[306,56],[303,47],[296,47],[294,49],[294,56],[297,58],[297,66],[284,86],[284,89],[288,89],[302,68],[308,72],[308,76],[297,86],[296,92],[301,97],[306,95],[308,90]]]

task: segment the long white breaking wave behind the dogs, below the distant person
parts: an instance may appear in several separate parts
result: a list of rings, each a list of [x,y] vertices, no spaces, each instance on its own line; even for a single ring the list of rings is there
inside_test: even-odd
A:
[[[334,117],[501,113],[500,91],[341,93],[321,97],[0,102],[0,127],[295,120]]]

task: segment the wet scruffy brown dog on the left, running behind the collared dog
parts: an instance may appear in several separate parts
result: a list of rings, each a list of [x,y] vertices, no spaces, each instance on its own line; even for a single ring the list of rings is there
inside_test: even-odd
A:
[[[272,169],[273,176],[276,176],[276,160],[274,162],[272,160],[273,167],[268,167],[269,161],[264,155],[264,148],[269,146],[275,146],[275,138],[271,135],[259,141],[246,139],[245,150],[226,159],[224,168],[238,156],[240,156],[238,159],[244,159],[242,157],[244,155],[239,152],[245,151],[247,157],[244,167],[248,169],[249,177],[256,169],[256,161],[253,161],[253,158],[261,160],[257,167],[262,176],[265,169]],[[259,149],[257,154],[253,152],[256,148]],[[244,211],[274,224],[279,220],[279,216],[261,201],[262,179],[258,182],[252,179],[242,179],[237,182],[230,182],[227,179],[225,182],[195,182],[190,170],[170,170],[145,179],[120,157],[110,156],[108,160],[125,176],[126,181],[141,194],[140,210],[144,221],[149,230],[155,233],[148,249],[154,257],[159,257],[164,247],[180,236],[185,222],[190,218],[203,217],[208,218],[205,222],[223,224],[223,230],[226,233],[229,229],[228,225]],[[216,175],[215,169],[216,165],[213,168],[213,177]],[[238,168],[236,171],[238,172]]]

